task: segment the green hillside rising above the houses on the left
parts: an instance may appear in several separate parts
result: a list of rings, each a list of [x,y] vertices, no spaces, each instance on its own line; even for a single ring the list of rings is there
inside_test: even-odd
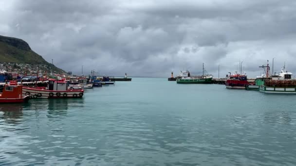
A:
[[[48,63],[42,56],[31,50],[28,43],[22,39],[0,35],[0,63],[3,62],[46,65],[54,70],[61,71],[61,69]]]

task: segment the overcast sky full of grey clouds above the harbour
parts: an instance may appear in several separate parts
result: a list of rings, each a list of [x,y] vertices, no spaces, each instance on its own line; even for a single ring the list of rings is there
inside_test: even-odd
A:
[[[1,0],[0,35],[76,74],[255,77],[275,58],[296,75],[295,0]]]

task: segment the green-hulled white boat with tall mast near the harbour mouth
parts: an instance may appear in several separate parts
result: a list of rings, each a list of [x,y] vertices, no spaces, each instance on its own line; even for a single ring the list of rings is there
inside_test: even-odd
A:
[[[180,77],[176,80],[177,83],[212,83],[213,76],[211,74],[205,74],[206,71],[204,70],[203,67],[203,75],[198,75],[198,76],[191,76],[190,72],[188,70],[186,71],[181,71]]]

